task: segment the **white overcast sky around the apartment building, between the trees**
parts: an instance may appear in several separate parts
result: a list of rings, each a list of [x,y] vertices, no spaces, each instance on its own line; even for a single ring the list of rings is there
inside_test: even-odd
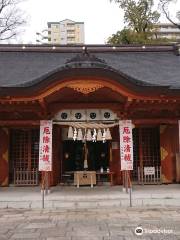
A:
[[[176,8],[180,9],[180,0],[177,2]],[[26,0],[21,7],[29,16],[29,24],[18,42],[35,43],[36,32],[47,29],[48,21],[66,18],[84,22],[86,44],[105,43],[123,28],[123,11],[109,0]]]

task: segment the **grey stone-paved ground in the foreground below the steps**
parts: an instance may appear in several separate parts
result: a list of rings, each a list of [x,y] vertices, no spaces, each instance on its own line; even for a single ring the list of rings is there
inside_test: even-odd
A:
[[[142,235],[135,234],[137,227]],[[1,209],[0,240],[15,239],[178,240],[180,207]]]

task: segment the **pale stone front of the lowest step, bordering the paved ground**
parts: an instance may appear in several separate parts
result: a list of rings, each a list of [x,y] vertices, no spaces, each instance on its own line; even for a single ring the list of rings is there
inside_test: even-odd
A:
[[[87,200],[87,201],[59,201],[45,200],[45,208],[49,209],[84,209],[84,208],[104,208],[104,207],[128,207],[130,206],[129,199],[116,200]],[[180,199],[132,199],[132,206],[180,206]],[[0,208],[27,208],[39,209],[42,208],[42,200],[36,201],[0,201]]]

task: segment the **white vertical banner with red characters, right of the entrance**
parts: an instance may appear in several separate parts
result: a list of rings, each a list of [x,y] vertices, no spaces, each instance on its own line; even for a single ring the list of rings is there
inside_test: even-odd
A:
[[[133,170],[132,121],[119,121],[121,170]]]

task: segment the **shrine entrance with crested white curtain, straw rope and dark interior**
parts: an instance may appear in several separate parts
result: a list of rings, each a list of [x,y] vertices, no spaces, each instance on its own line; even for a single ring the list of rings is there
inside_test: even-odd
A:
[[[109,109],[65,109],[57,113],[54,124],[61,128],[60,183],[73,183],[78,171],[94,172],[110,179],[112,159],[111,131],[118,120]],[[100,176],[101,175],[101,176]],[[70,181],[71,180],[71,181]]]

